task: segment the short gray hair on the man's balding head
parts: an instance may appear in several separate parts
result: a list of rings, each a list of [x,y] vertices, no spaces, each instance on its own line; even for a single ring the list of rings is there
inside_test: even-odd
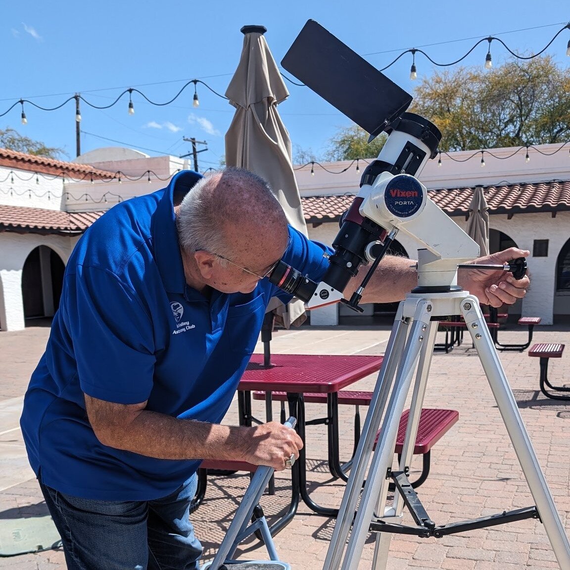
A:
[[[217,175],[221,175],[220,188],[215,192],[216,185],[211,184],[211,180]],[[252,200],[243,200],[245,192],[261,194],[266,198],[262,198],[262,202],[266,203],[259,204],[258,200],[257,204],[252,204]],[[189,253],[196,250],[225,253],[229,246],[222,230],[225,223],[236,223],[252,215],[259,206],[263,211],[267,201],[275,202],[280,209],[268,182],[249,170],[228,167],[205,176],[180,203],[176,226],[182,249]]]

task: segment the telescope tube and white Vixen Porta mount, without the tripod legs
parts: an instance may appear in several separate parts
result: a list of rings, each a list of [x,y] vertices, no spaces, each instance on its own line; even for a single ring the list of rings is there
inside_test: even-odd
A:
[[[429,120],[406,112],[412,96],[360,55],[309,20],[282,60],[283,67],[370,133],[388,135],[378,157],[360,180],[360,191],[340,220],[340,231],[328,256],[329,267],[315,283],[283,261],[270,281],[302,299],[307,309],[343,302],[355,311],[364,288],[399,231],[424,244],[423,263],[414,292],[457,291],[457,269],[479,255],[479,246],[427,196],[416,174],[437,156],[441,132]],[[369,266],[351,299],[344,299],[348,282]],[[526,273],[526,260],[478,269]],[[436,288],[437,291],[434,289]]]

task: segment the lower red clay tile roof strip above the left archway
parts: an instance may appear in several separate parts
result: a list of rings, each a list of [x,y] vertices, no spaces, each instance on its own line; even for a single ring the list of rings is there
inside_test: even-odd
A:
[[[0,205],[0,231],[33,234],[82,234],[103,212],[63,212]]]

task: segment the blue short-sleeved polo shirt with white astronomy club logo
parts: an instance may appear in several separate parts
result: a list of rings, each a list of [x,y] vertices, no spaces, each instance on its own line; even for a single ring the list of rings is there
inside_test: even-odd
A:
[[[150,500],[168,495],[200,461],[156,459],[102,445],[83,393],[119,404],[218,423],[255,348],[271,296],[267,279],[249,294],[186,284],[173,193],[201,178],[185,171],[168,188],[132,198],[99,218],[67,263],[46,352],[32,374],[21,418],[28,457],[47,486],[84,498]],[[325,246],[290,228],[284,260],[314,279]]]

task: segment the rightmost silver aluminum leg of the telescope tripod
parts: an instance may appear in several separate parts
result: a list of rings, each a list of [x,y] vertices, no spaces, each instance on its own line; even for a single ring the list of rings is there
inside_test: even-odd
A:
[[[508,385],[506,374],[494,348],[491,334],[485,325],[479,302],[468,297],[461,303],[461,311],[467,329],[471,333],[473,343],[479,354],[483,370],[491,386],[493,396],[503,418],[512,446],[519,459],[528,488],[536,503],[544,530],[552,545],[552,550],[561,569],[570,568],[570,542],[560,522],[556,506],[552,498],[544,474],[540,469],[526,427],[520,417],[515,397]]]

